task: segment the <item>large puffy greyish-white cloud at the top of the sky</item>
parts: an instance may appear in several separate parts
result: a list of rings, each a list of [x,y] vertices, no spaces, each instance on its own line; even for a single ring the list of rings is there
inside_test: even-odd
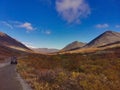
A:
[[[56,10],[68,23],[80,23],[91,13],[85,0],[56,0]]]

